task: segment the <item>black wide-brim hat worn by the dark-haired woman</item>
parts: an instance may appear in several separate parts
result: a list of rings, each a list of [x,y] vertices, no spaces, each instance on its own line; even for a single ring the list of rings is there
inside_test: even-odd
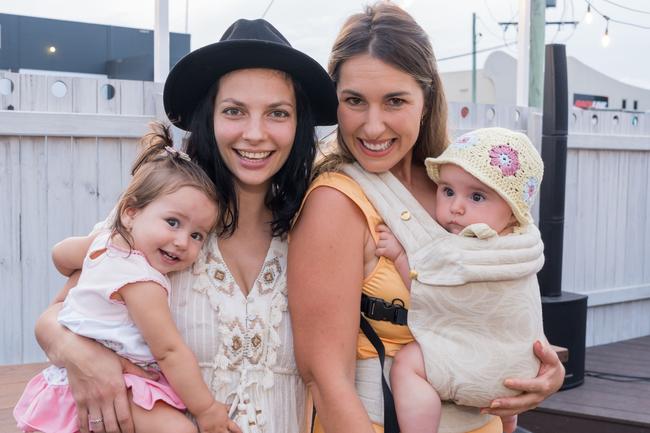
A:
[[[237,69],[269,68],[284,71],[300,83],[309,99],[316,125],[336,123],[334,83],[314,59],[291,47],[268,21],[237,20],[219,42],[183,57],[169,72],[163,103],[169,120],[189,130],[192,114],[210,87]]]

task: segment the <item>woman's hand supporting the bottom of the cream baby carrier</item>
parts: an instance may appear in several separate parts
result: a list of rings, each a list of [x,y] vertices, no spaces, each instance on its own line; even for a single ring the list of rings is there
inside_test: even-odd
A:
[[[548,345],[536,341],[533,345],[535,355],[541,361],[537,377],[533,379],[506,379],[505,386],[522,391],[515,397],[497,398],[482,413],[507,417],[536,408],[544,399],[560,389],[564,382],[564,366],[557,354]]]

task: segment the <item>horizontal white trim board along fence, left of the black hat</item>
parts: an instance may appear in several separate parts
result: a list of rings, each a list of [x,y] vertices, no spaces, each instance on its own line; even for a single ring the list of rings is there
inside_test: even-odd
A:
[[[153,116],[0,111],[0,136],[139,138]]]

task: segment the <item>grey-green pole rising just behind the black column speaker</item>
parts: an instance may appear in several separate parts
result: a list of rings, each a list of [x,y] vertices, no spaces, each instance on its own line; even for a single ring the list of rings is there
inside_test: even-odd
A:
[[[531,0],[530,71],[528,106],[542,108],[544,103],[544,36],[546,30],[546,1]]]

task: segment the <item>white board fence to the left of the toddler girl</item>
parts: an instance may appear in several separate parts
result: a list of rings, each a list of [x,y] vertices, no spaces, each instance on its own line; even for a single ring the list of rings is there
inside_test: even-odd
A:
[[[154,120],[68,114],[66,126],[59,116],[0,111],[0,364],[44,359],[34,323],[64,283],[50,260],[52,246],[88,233],[113,208],[137,137]],[[23,128],[30,135],[11,135]],[[101,136],[88,137],[92,130]]]

